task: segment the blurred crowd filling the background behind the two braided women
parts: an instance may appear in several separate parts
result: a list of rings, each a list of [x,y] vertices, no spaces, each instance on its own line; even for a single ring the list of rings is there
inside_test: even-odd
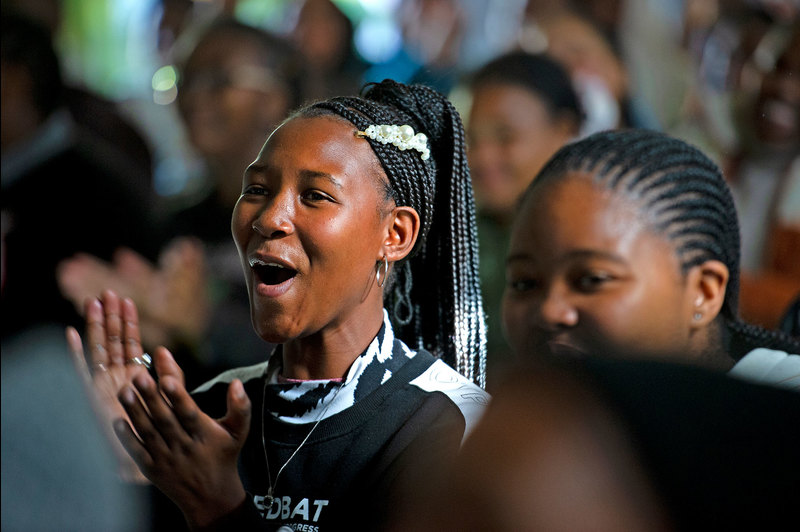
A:
[[[384,78],[431,85],[464,117],[490,391],[514,359],[501,296],[519,197],[561,146],[607,129],[669,133],[723,169],[742,235],[740,313],[800,335],[795,0],[407,0],[402,46],[380,63],[356,52],[340,4],[292,2],[276,30],[243,20],[235,0],[158,3],[153,44],[177,68],[177,98],[148,112],[174,122],[202,184],[164,196],[164,132],[62,75],[60,2],[3,1],[4,364],[7,342],[81,328],[104,289],[136,302],[146,348],[169,347],[190,387],[262,361],[270,346],[253,334],[230,233],[242,172],[292,109]],[[476,61],[469,31],[503,9],[516,26]],[[630,522],[658,520],[643,508]]]

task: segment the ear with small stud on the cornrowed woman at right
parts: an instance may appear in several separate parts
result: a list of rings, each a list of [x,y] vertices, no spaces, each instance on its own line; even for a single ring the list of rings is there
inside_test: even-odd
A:
[[[725,302],[730,273],[718,260],[707,260],[693,266],[688,274],[688,314],[692,329],[700,329],[719,315]]]

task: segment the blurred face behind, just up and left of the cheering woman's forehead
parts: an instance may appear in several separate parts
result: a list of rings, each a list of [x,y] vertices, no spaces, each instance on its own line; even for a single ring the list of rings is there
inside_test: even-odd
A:
[[[203,158],[229,162],[243,150],[252,157],[289,110],[274,76],[242,36],[220,33],[200,42],[182,72],[178,105]]]

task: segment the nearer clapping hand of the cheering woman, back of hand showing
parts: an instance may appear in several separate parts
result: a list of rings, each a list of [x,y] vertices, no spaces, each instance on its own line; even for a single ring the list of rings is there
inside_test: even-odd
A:
[[[228,387],[225,417],[212,419],[175,377],[179,368],[169,351],[159,348],[154,355],[159,382],[143,372],[133,378],[133,387],[120,390],[133,430],[123,419],[115,422],[114,430],[145,476],[180,507],[190,526],[206,527],[245,499],[237,460],[250,430],[250,400],[236,379]]]

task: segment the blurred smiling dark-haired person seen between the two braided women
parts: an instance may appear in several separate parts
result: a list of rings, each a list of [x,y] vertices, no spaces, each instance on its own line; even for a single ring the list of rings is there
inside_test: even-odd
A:
[[[490,382],[512,359],[502,336],[504,257],[517,201],[544,163],[575,138],[583,117],[567,71],[523,51],[488,62],[469,79],[467,157],[478,206],[481,284]]]

